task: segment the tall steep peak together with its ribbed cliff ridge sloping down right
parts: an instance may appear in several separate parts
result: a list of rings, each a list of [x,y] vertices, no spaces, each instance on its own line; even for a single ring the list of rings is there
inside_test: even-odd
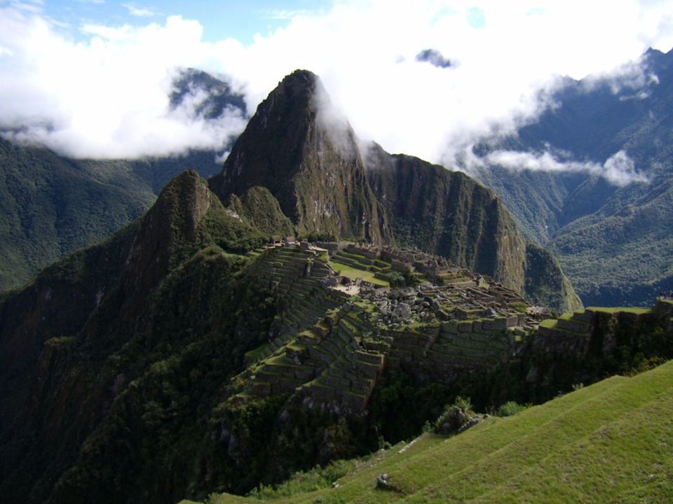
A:
[[[295,71],[259,104],[222,174],[210,181],[222,199],[256,186],[278,200],[299,235],[416,246],[540,304],[580,306],[555,260],[526,244],[490,190],[376,144],[360,148],[311,72]],[[539,254],[548,255],[544,271],[532,259]]]

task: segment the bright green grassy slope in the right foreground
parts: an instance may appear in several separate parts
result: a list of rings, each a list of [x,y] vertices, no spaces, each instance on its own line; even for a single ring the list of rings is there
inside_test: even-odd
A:
[[[335,488],[284,503],[669,503],[673,500],[673,361],[611,377],[454,437],[425,434],[379,451]],[[395,490],[376,489],[386,473]],[[299,482],[299,479],[295,480]],[[294,484],[295,489],[302,485]],[[306,490],[308,489],[308,490]],[[285,491],[283,491],[285,490]],[[213,496],[212,504],[257,498]]]

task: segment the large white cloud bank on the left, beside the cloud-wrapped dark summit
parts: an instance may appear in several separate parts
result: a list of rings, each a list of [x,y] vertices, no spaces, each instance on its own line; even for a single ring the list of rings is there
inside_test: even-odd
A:
[[[0,125],[11,136],[77,158],[137,158],[188,148],[222,148],[245,127],[230,111],[218,120],[193,112],[205,97],[171,110],[176,67],[203,52],[201,27],[182,18],[165,25],[83,27],[91,38],[63,38],[43,18],[3,13]]]

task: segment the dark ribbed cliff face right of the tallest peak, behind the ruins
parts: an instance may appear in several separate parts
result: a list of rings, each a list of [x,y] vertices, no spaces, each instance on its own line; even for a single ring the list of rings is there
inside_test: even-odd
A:
[[[400,244],[416,246],[523,291],[525,242],[491,190],[461,172],[378,146],[367,179]]]

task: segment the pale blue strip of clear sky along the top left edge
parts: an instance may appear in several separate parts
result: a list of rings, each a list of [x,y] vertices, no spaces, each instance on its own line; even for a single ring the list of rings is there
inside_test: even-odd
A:
[[[249,44],[255,34],[285,27],[295,15],[325,12],[330,6],[325,0],[48,0],[43,8],[50,18],[69,25],[142,26],[182,15],[203,25],[204,41],[232,37]]]

